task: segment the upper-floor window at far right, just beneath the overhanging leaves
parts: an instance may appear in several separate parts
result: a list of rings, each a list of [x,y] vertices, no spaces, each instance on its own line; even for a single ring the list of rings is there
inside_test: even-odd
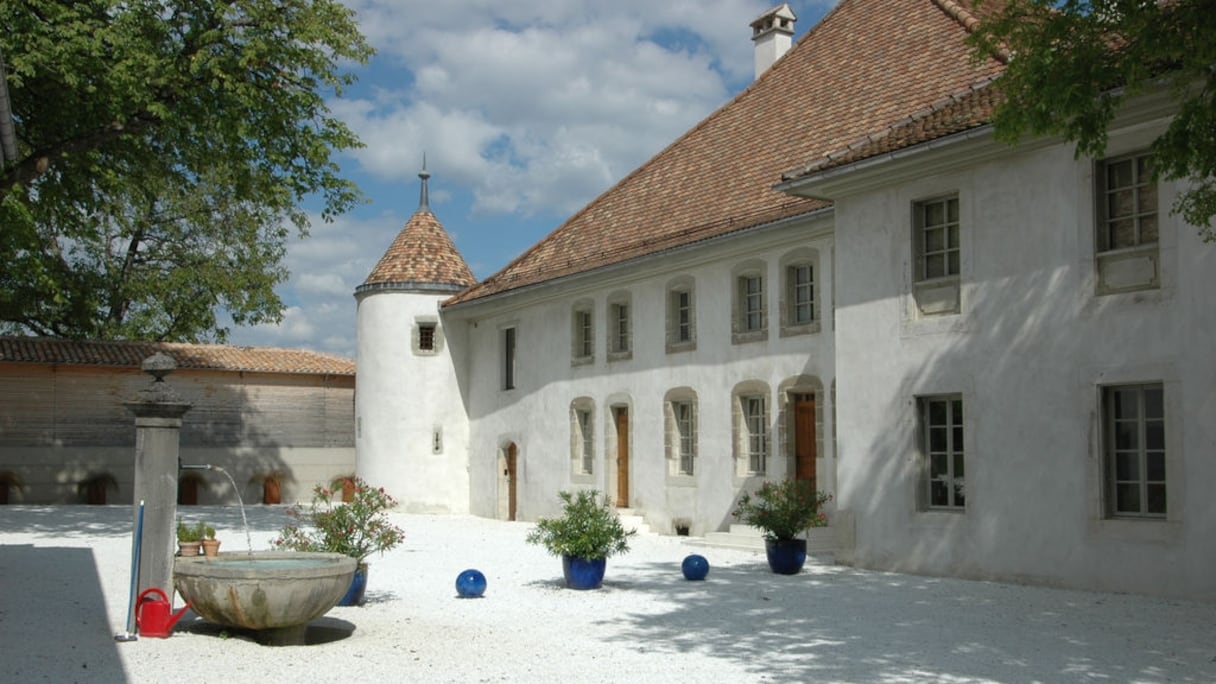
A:
[[[1098,251],[1156,243],[1156,183],[1148,155],[1098,164]]]

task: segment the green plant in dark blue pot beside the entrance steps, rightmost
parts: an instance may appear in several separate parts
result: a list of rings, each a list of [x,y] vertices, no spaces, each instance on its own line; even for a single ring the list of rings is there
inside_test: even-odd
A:
[[[826,527],[824,504],[831,494],[816,492],[805,480],[766,481],[755,493],[744,492],[734,517],[760,529],[769,567],[778,574],[796,574],[806,562],[806,538],[811,527]]]

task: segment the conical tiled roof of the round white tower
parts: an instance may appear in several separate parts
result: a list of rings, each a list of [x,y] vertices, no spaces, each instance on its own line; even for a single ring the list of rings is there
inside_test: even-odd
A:
[[[457,291],[477,282],[443,224],[429,209],[405,223],[367,280],[355,288],[440,288]]]

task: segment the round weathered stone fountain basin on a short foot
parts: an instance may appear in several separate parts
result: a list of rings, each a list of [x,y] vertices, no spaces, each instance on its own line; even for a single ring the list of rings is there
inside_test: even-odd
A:
[[[303,643],[308,623],[342,599],[354,574],[355,559],[342,554],[232,551],[175,559],[173,584],[207,622]]]

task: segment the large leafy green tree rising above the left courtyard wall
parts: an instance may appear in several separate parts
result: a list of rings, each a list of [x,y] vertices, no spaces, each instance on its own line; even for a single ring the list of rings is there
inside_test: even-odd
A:
[[[361,200],[327,96],[372,50],[336,0],[5,0],[16,158],[0,330],[224,341],[277,321],[285,246]]]

